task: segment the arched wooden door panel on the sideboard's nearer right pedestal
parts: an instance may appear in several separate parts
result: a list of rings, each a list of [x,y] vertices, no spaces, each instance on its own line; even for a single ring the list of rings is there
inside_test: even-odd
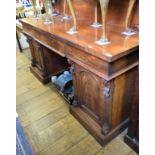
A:
[[[78,106],[102,125],[104,114],[102,79],[78,65],[75,67],[75,78]]]

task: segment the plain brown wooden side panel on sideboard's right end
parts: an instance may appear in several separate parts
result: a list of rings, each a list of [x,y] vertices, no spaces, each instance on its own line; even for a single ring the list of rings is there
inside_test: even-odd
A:
[[[136,70],[137,67],[114,79],[112,128],[115,128],[117,124],[129,117],[130,105],[134,93]]]

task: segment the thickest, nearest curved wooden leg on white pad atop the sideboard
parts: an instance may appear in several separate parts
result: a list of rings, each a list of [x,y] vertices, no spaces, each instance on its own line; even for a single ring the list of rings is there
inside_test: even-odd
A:
[[[107,30],[106,30],[106,19],[108,12],[109,0],[99,0],[101,6],[101,14],[102,14],[102,37],[96,41],[95,43],[98,45],[107,45],[110,41],[107,38]]]

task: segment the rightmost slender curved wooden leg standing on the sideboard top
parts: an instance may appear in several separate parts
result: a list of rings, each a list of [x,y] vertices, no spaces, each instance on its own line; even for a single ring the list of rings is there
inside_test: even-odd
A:
[[[122,32],[122,34],[126,36],[132,36],[136,34],[136,32],[133,31],[131,28],[131,14],[132,14],[132,10],[133,10],[135,2],[136,0],[129,1],[128,11],[127,11],[126,20],[125,20],[125,31]]]

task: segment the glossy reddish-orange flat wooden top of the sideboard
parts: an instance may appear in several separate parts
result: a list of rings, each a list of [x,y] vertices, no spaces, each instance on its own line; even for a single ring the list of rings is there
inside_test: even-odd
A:
[[[124,31],[123,27],[108,23],[107,35],[111,43],[100,46],[95,41],[101,37],[101,28],[94,29],[81,21],[78,24],[78,33],[70,35],[67,31],[72,27],[72,20],[62,21],[61,18],[61,16],[55,17],[54,22],[50,25],[44,24],[44,17],[39,20],[29,17],[20,21],[23,25],[32,26],[33,29],[38,30],[40,33],[46,33],[48,37],[54,37],[107,62],[117,60],[138,49],[139,35],[136,27],[137,34],[126,37],[121,34]]]

